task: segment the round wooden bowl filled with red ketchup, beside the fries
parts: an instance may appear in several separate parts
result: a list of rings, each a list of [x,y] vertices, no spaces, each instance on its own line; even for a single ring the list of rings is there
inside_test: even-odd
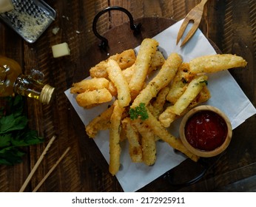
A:
[[[229,145],[232,127],[229,119],[213,106],[198,106],[181,121],[180,135],[189,151],[201,157],[220,154]]]

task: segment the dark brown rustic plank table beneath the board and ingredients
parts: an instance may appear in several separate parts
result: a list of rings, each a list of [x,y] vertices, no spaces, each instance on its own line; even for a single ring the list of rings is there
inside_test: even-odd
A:
[[[44,72],[45,82],[55,86],[52,104],[41,105],[27,99],[30,128],[38,130],[45,142],[26,150],[24,161],[16,166],[0,166],[0,191],[18,191],[43,152],[50,138],[57,136],[47,156],[34,174],[25,191],[32,191],[58,157],[71,150],[38,191],[123,191],[118,180],[108,172],[108,166],[93,140],[85,137],[84,128],[64,91],[73,84],[77,71],[90,63],[84,55],[99,43],[92,33],[95,15],[108,6],[124,7],[133,18],[167,18],[181,20],[200,0],[48,0],[57,17],[34,44],[29,44],[0,21],[0,54],[18,61],[29,73],[36,68]],[[256,1],[208,1],[201,21],[201,30],[223,53],[243,56],[246,69],[231,73],[252,104],[256,106]],[[98,20],[98,32],[107,33],[129,21],[124,13],[112,11]],[[163,25],[162,25],[163,26]],[[161,26],[161,27],[162,27]],[[53,35],[52,29],[60,27]],[[164,27],[164,26],[163,26]],[[159,30],[161,28],[158,28]],[[78,33],[78,32],[79,33]],[[71,55],[53,58],[51,46],[66,41]],[[84,77],[88,72],[84,72]],[[77,78],[77,77],[76,77]],[[253,116],[233,132],[232,143],[213,163],[205,176],[189,186],[174,186],[168,176],[159,177],[140,191],[256,191],[256,117]],[[185,176],[189,163],[170,174]],[[193,166],[192,166],[193,167]]]

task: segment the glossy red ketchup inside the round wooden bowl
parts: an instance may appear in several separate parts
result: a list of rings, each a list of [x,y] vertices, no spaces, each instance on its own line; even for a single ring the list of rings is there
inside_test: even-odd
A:
[[[215,112],[196,112],[186,122],[186,140],[196,149],[212,151],[223,144],[228,133],[224,119]]]

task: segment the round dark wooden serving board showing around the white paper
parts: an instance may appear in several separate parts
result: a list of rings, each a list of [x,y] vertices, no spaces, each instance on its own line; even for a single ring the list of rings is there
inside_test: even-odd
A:
[[[90,50],[88,50],[83,57],[81,57],[81,61],[84,63],[83,68],[78,68],[75,71],[73,82],[81,81],[84,78],[87,78],[90,73],[89,70],[91,67],[98,64],[100,61],[106,60],[110,57],[110,55],[114,55],[118,52],[123,52],[124,50],[135,48],[141,44],[141,41],[144,38],[152,38],[158,33],[161,33],[166,28],[170,27],[172,24],[175,24],[176,21],[169,18],[139,18],[135,20],[135,24],[141,23],[141,33],[138,35],[134,35],[133,31],[129,28],[129,22],[125,24],[121,24],[118,27],[112,28],[107,33],[100,34],[107,38],[109,47],[107,47],[107,51],[102,50],[98,45],[101,44],[101,40],[92,44]],[[215,48],[216,52],[220,53],[218,47],[210,41],[212,46]],[[78,117],[77,113],[73,109],[73,124],[77,129],[77,136],[80,140],[81,151],[87,153],[94,163],[101,167],[102,170],[108,172],[108,164],[104,159],[103,155],[101,155],[100,150],[94,143],[94,141],[86,135],[84,124],[81,122],[81,119]],[[208,160],[209,164],[212,163],[212,160]],[[187,181],[187,175],[185,169],[192,169],[194,171],[195,177],[198,174],[201,174],[202,167],[201,164],[194,163],[191,160],[185,160],[180,166],[172,169],[171,172],[168,172],[164,176],[174,177],[175,174],[178,174],[178,183],[183,183],[184,180]],[[191,177],[189,177],[190,179]],[[170,180],[172,182],[172,180]],[[177,183],[177,182],[176,182]]]

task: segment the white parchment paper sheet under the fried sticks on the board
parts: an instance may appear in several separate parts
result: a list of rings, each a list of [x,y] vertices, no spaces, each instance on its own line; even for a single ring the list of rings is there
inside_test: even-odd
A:
[[[167,52],[167,55],[171,52],[178,52],[178,54],[182,56],[183,61],[190,61],[192,58],[201,55],[212,55],[216,53],[200,30],[197,30],[185,47],[181,48],[179,46],[181,43],[177,46],[176,38],[181,23],[182,21],[178,21],[176,24],[172,25],[172,27],[167,28],[154,37],[159,42],[159,46]],[[255,115],[255,106],[253,106],[249,99],[246,98],[246,95],[228,71],[209,75],[208,83],[212,98],[205,104],[216,106],[225,112],[232,123],[233,129],[246,121],[247,118]],[[67,89],[65,94],[84,125],[87,125],[92,118],[95,118],[107,109],[107,106],[109,105],[109,103],[107,103],[102,104],[101,106],[96,106],[93,109],[83,109],[76,103],[75,95],[70,94],[70,89]],[[172,135],[178,136],[179,121],[180,120],[175,121],[169,129],[170,132],[172,132]],[[94,140],[101,150],[102,155],[109,163],[109,132],[106,130],[98,133]],[[121,152],[121,170],[116,174],[116,177],[124,191],[137,191],[167,172],[169,169],[178,166],[178,164],[185,159],[185,156],[175,154],[168,144],[158,142],[157,160],[154,166],[145,166],[144,163],[132,163],[129,158],[127,143],[124,143]]]

